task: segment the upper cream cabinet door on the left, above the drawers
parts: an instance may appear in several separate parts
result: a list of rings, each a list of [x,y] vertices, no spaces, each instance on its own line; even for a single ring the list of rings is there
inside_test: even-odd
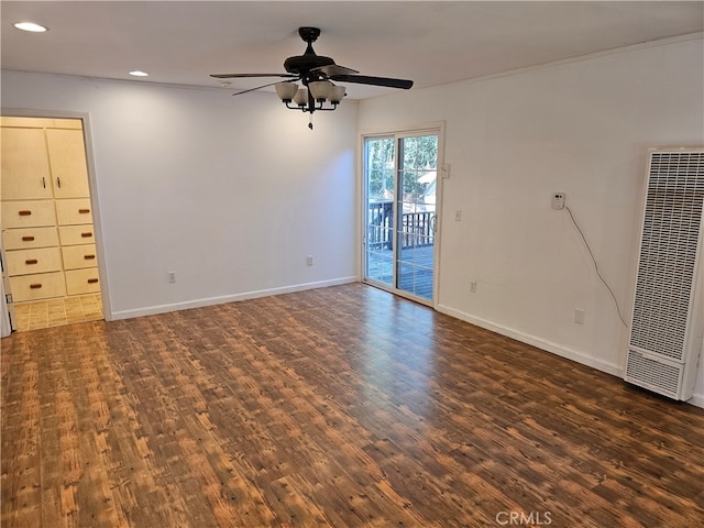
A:
[[[2,128],[3,200],[52,198],[48,156],[42,129]]]

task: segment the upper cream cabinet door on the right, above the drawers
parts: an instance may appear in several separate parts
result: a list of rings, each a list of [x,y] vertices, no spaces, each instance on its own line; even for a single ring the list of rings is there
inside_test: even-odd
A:
[[[89,198],[82,130],[46,129],[55,198]]]

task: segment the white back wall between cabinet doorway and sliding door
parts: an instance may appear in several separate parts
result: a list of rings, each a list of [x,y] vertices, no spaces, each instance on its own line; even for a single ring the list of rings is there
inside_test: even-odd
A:
[[[356,105],[231,94],[2,73],[4,113],[88,114],[112,317],[356,279]]]

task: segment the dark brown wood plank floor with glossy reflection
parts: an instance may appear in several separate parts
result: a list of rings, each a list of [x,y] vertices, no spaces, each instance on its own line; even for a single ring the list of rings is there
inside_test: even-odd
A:
[[[703,433],[362,284],[2,340],[4,528],[689,528]]]

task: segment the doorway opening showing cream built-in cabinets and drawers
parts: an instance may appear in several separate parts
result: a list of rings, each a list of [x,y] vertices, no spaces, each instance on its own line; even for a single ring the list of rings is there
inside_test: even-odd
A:
[[[13,330],[103,318],[81,119],[0,118],[3,309]]]

